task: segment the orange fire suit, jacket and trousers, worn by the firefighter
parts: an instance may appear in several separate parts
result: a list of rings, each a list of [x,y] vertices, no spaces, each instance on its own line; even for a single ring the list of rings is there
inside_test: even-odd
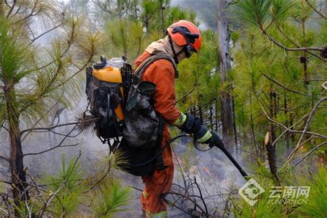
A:
[[[135,66],[146,59],[150,54],[143,52],[135,61]],[[152,94],[152,101],[156,112],[166,120],[161,147],[170,139],[168,123],[173,124],[181,117],[181,112],[175,106],[175,69],[172,63],[166,59],[159,59],[143,72],[141,80],[150,81],[157,86]],[[164,170],[155,170],[154,174],[142,177],[146,188],[141,195],[142,210],[146,212],[146,217],[166,217],[167,205],[161,199],[161,194],[168,192],[172,185],[174,176],[174,166],[172,162],[172,150],[168,146],[163,152]]]

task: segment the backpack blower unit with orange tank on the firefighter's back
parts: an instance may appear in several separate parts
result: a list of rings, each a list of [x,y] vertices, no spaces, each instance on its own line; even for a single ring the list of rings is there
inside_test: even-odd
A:
[[[108,143],[110,152],[122,137],[125,102],[132,83],[132,66],[125,57],[110,61],[101,56],[99,62],[86,68],[86,95],[89,117],[97,118],[95,132],[102,143]],[[111,144],[110,139],[114,143]]]

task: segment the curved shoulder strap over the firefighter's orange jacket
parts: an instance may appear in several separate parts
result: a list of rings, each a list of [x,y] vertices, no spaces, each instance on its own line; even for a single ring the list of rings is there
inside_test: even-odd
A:
[[[159,59],[166,59],[172,63],[172,66],[174,67],[175,70],[175,78],[178,78],[178,70],[176,63],[172,57],[170,57],[169,54],[152,54],[150,57],[146,58],[141,62],[141,64],[136,68],[134,71],[134,74],[137,75],[139,78],[143,75],[143,72],[150,66],[151,63],[159,60]]]

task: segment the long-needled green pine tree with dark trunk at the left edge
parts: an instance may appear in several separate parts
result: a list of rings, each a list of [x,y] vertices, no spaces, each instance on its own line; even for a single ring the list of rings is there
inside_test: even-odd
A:
[[[57,103],[72,106],[79,92],[75,77],[95,55],[96,37],[85,30],[81,20],[59,11],[48,1],[13,1],[3,7],[0,123],[1,131],[6,130],[10,136],[10,157],[1,159],[10,165],[12,196],[19,206],[20,201],[30,198],[21,132],[46,121]],[[50,18],[54,27],[39,32],[35,19]],[[44,47],[38,43],[54,30],[61,30],[57,39]],[[78,58],[74,59],[76,54]]]

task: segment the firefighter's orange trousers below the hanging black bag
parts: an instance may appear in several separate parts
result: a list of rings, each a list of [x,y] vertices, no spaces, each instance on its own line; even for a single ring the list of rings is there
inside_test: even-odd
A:
[[[168,138],[164,137],[161,147],[166,144]],[[164,170],[155,170],[153,175],[142,177],[146,184],[141,194],[142,210],[146,212],[146,217],[167,217],[167,204],[161,199],[161,195],[169,192],[174,177],[174,164],[172,162],[172,150],[168,146],[162,152],[164,164],[167,166]]]

